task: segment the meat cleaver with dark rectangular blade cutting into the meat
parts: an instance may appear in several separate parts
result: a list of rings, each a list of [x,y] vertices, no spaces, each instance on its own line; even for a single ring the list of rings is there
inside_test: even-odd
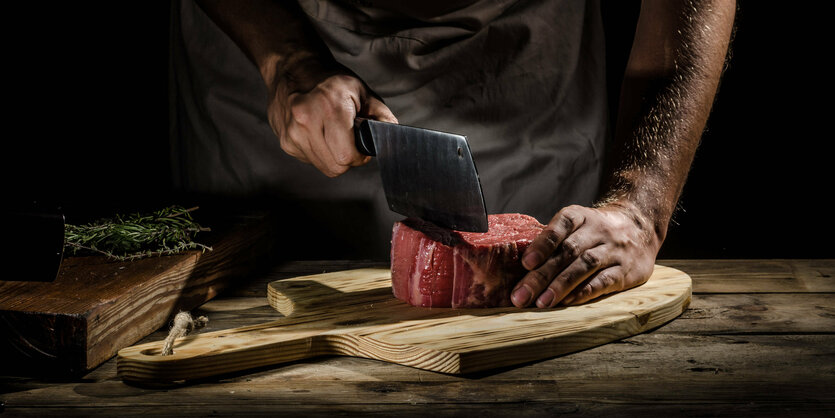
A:
[[[392,211],[436,225],[487,232],[487,210],[467,138],[357,118],[357,149],[377,157]]]

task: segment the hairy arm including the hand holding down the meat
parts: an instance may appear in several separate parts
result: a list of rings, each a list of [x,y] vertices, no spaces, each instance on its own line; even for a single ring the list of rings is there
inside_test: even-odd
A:
[[[621,90],[608,189],[559,211],[523,254],[511,300],[574,305],[644,283],[667,234],[725,62],[733,0],[645,0]]]

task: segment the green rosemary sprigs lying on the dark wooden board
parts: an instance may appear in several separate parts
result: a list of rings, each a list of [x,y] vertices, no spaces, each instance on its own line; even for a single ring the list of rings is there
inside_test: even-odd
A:
[[[116,215],[86,225],[67,224],[64,250],[73,255],[93,252],[120,261],[195,248],[211,251],[211,247],[192,240],[198,232],[210,231],[192,219],[191,212],[197,209],[170,206],[147,215]]]

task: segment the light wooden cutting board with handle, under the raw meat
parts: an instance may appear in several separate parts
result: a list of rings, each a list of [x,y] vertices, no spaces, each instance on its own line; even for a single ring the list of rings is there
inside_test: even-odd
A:
[[[690,303],[690,277],[656,266],[650,280],[581,306],[554,309],[418,308],[391,294],[388,269],[359,269],[272,282],[268,299],[286,317],[187,336],[174,354],[162,341],[119,351],[118,375],[171,382],[321,355],[365,357],[443,373],[515,365],[605,344],[658,327]]]

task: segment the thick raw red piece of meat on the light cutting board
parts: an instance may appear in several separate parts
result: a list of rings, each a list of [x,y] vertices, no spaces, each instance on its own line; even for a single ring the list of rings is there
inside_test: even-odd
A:
[[[489,231],[461,232],[410,218],[394,224],[394,296],[414,306],[510,306],[524,275],[521,256],[544,227],[518,213],[489,215]]]

